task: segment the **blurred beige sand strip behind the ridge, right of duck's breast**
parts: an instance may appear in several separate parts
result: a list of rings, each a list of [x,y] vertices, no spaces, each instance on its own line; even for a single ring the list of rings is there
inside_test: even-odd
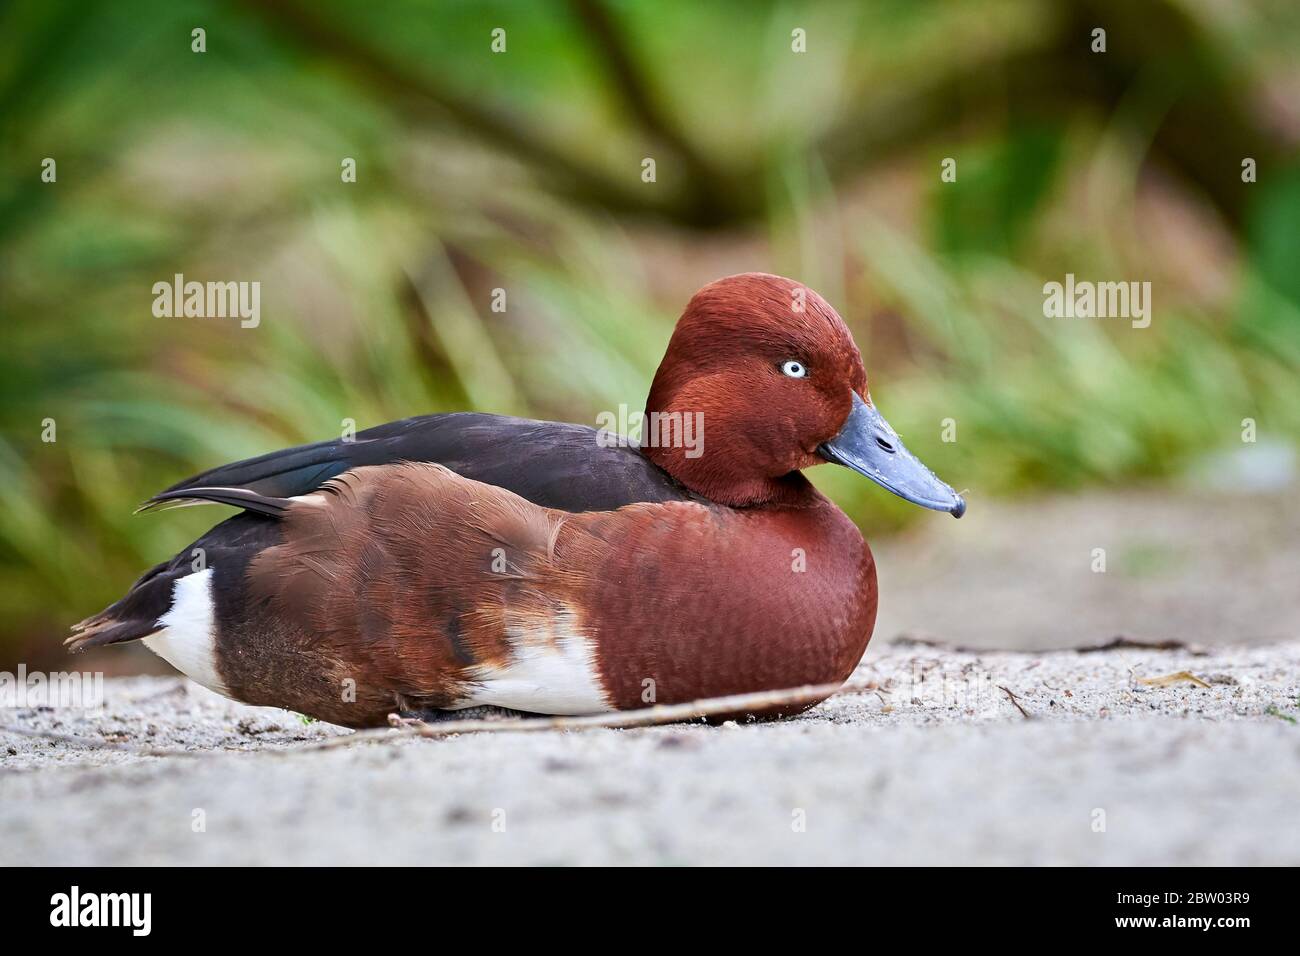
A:
[[[1300,640],[1300,488],[982,502],[872,541],[876,636],[1048,650]],[[1105,571],[1096,551],[1101,550]]]

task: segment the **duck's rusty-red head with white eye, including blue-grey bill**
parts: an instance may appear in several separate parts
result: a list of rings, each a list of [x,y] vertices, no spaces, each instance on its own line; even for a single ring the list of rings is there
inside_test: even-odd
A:
[[[650,386],[642,451],[737,507],[806,494],[798,472],[835,462],[922,507],[966,511],[871,403],[840,315],[780,276],[729,276],[690,299]]]

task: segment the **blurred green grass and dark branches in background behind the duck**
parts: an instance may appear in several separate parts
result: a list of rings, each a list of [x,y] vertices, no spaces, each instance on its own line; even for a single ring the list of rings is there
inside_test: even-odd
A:
[[[134,518],[150,493],[346,419],[637,408],[685,299],[731,272],[826,294],[972,507],[1171,480],[1243,418],[1295,441],[1300,168],[1274,126],[1300,17],[1148,12],[1173,27],[1030,1],[0,8],[0,662],[220,516]],[[1118,48],[1076,82],[1092,22]],[[261,325],[155,319],[177,272],[261,281]],[[1152,326],[1045,320],[1066,272],[1150,280]],[[868,536],[920,516],[814,479]]]

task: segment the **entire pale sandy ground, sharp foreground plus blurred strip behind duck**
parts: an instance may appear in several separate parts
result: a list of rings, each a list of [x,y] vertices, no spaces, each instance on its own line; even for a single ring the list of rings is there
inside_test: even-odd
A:
[[[872,542],[854,680],[875,687],[783,723],[308,749],[346,731],[176,678],[110,678],[101,710],[0,706],[194,754],[0,732],[0,864],[1296,865],[1294,499],[972,502]],[[1117,635],[1206,653],[1062,650]],[[1143,683],[1180,671],[1206,685]]]

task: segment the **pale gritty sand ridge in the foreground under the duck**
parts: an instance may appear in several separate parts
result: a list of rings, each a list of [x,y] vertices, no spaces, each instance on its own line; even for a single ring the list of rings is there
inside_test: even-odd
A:
[[[1179,671],[1208,685],[1141,683]],[[326,750],[344,731],[113,679],[101,710],[9,713],[195,756],[0,734],[0,862],[1294,865],[1297,674],[1300,644],[893,645],[781,723]]]

